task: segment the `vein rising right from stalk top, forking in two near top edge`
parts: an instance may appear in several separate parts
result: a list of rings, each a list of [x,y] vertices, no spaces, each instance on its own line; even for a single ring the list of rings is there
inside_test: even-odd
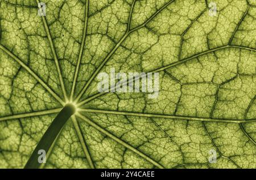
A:
[[[129,29],[130,28],[130,23],[131,23],[131,12],[129,15],[129,19],[128,19],[128,23],[127,23],[127,31],[126,33],[122,36],[122,38],[117,42],[117,44],[114,46],[114,48],[109,52],[109,54],[104,58],[104,60],[101,62],[100,66],[98,66],[98,68],[96,69],[96,71],[93,72],[92,76],[90,76],[90,79],[88,80],[88,82],[85,83],[84,87],[82,88],[81,92],[79,93],[79,95],[76,97],[75,102],[79,101],[80,98],[82,97],[82,95],[84,95],[85,91],[87,90],[87,88],[89,87],[90,83],[92,83],[93,79],[97,76],[98,72],[100,72],[100,70],[102,69],[102,67],[104,67],[104,65],[109,61],[110,57],[112,57],[112,55],[115,53],[115,51],[119,48],[119,46],[122,44],[122,42],[126,39],[127,36],[129,36],[130,33],[137,31],[138,29],[144,27],[148,22],[150,22],[156,15],[158,15],[162,10],[164,10],[164,8],[166,8],[168,5],[170,5],[172,2],[174,2],[174,0],[169,1],[168,3],[166,3],[164,6],[162,6],[161,8],[159,8],[158,11],[156,11],[152,16],[150,16],[150,18],[148,18],[146,20],[146,22],[144,22],[143,24],[139,25],[136,28],[133,29]],[[134,8],[134,4],[135,1],[133,2],[132,6],[131,6],[131,10],[133,11]]]

